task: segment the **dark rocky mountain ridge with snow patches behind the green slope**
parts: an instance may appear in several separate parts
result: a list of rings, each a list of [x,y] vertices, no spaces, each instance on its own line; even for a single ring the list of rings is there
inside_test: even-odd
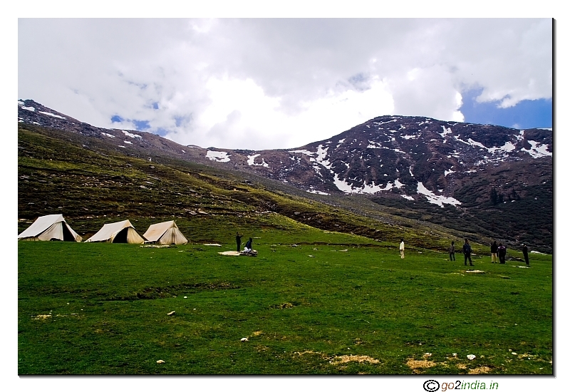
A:
[[[378,210],[383,217],[552,250],[549,129],[388,115],[299,148],[254,151],[185,146],[151,133],[96,128],[33,100],[19,100],[19,122],[63,131],[58,137],[73,135],[82,148],[99,153],[232,170],[361,215],[380,219]]]

